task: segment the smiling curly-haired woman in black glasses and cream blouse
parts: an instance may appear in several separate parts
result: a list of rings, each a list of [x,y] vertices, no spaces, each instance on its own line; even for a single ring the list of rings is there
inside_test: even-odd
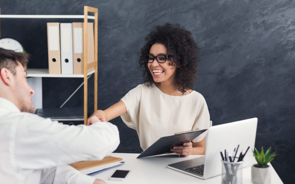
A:
[[[130,90],[119,102],[93,116],[109,121],[121,116],[135,130],[143,150],[160,137],[188,130],[209,128],[204,97],[193,91],[198,46],[192,33],[179,24],[156,26],[145,38],[139,59],[144,84]],[[91,125],[91,117],[88,125]],[[171,151],[188,156],[205,154],[205,135],[174,146]]]

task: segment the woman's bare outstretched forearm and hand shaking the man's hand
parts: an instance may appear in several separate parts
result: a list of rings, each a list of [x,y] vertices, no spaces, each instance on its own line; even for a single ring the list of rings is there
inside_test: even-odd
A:
[[[107,108],[106,110],[97,110],[95,111],[92,116],[96,116],[99,121],[109,121],[114,119],[115,117],[121,116],[127,112],[126,105],[122,100],[115,103],[111,107]],[[94,119],[89,117],[87,121],[87,125],[91,125],[94,122]],[[96,120],[96,118],[95,118]]]

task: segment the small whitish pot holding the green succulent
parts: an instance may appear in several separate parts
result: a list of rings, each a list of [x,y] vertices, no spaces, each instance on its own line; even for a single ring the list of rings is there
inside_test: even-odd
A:
[[[255,164],[255,166],[259,166]],[[271,167],[267,165],[266,168],[259,168],[252,165],[251,168],[251,181],[255,184],[271,183]]]

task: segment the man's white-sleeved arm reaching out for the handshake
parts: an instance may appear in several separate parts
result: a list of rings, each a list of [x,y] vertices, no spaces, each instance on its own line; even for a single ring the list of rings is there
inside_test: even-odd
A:
[[[24,113],[15,127],[17,167],[43,169],[80,160],[103,159],[119,145],[119,132],[109,122],[68,126]]]

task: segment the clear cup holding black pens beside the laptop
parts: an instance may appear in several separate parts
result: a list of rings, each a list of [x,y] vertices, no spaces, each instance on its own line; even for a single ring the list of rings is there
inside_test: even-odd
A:
[[[222,161],[222,184],[242,184],[243,160],[240,162]]]

